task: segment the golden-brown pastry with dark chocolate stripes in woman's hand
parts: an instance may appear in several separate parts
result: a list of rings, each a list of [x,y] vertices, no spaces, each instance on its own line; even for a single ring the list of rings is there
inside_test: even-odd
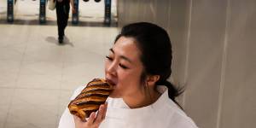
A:
[[[104,104],[113,90],[104,79],[93,79],[73,101],[68,104],[70,113],[84,120],[90,113],[96,112]]]

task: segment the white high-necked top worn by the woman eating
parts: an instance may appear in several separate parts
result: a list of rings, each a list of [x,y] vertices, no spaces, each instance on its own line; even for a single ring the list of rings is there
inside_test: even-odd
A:
[[[166,86],[157,86],[162,95],[153,104],[143,108],[129,108],[122,98],[108,97],[106,118],[100,128],[197,128],[194,121],[168,97]],[[84,89],[74,91],[73,100]],[[75,128],[68,108],[61,116],[59,128]]]

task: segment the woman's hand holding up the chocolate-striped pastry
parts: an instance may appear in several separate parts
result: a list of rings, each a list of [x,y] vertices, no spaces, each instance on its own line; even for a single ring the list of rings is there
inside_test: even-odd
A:
[[[99,125],[102,123],[102,120],[105,119],[107,107],[108,107],[107,103],[102,104],[99,108],[97,115],[95,112],[90,113],[90,117],[86,121],[79,119],[79,117],[77,116],[73,116],[75,127],[76,128],[98,128]]]

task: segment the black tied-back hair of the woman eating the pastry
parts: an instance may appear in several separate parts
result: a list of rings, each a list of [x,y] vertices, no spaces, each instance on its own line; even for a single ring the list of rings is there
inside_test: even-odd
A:
[[[169,98],[176,102],[175,97],[183,91],[167,81],[172,73],[172,44],[166,30],[152,23],[137,22],[123,26],[115,42],[122,36],[134,38],[138,49],[142,52],[140,56],[144,67],[142,82],[147,75],[160,75],[156,85],[166,85]],[[177,105],[181,107],[178,103]]]

